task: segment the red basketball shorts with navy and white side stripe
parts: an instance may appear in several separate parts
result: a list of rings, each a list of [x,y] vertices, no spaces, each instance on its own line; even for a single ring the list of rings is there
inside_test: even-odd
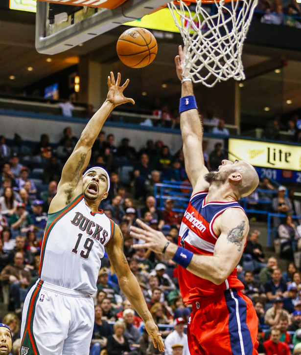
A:
[[[235,289],[193,302],[187,326],[191,355],[257,355],[258,320],[250,298]]]

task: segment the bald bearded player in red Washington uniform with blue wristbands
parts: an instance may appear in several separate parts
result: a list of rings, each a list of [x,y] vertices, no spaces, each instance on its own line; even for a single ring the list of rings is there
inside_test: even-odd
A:
[[[257,354],[257,316],[252,301],[241,293],[236,266],[249,231],[248,218],[237,200],[258,185],[252,165],[223,160],[208,172],[202,151],[203,127],[190,79],[184,78],[185,54],[179,47],[177,75],[182,82],[181,133],[186,173],[192,196],[185,211],[178,245],[162,232],[137,220],[131,235],[143,246],[175,261],[186,305],[192,305],[187,335],[191,355]],[[134,248],[141,244],[134,245]]]

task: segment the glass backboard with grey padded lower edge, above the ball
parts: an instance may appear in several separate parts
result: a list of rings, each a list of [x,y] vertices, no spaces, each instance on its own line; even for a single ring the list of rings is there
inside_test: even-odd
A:
[[[76,2],[78,5],[89,3],[89,1]],[[165,3],[166,0],[126,0],[120,6],[109,9],[59,5],[56,2],[56,7],[62,6],[62,12],[56,13],[49,21],[49,9],[51,12],[52,5],[37,1],[36,49],[43,54],[63,52],[125,22],[138,20]],[[70,10],[66,10],[66,7]]]

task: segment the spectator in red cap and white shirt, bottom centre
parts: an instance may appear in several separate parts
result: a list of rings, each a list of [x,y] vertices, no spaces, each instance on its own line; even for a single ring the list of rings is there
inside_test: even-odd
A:
[[[180,344],[183,346],[183,355],[189,355],[187,335],[184,333],[186,321],[179,317],[174,321],[174,331],[167,335],[165,344],[165,355],[172,355],[172,346]]]

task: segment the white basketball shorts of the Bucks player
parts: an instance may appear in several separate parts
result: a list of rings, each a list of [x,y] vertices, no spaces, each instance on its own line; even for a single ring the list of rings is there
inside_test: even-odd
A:
[[[24,301],[21,354],[88,355],[93,324],[88,293],[38,279]]]

